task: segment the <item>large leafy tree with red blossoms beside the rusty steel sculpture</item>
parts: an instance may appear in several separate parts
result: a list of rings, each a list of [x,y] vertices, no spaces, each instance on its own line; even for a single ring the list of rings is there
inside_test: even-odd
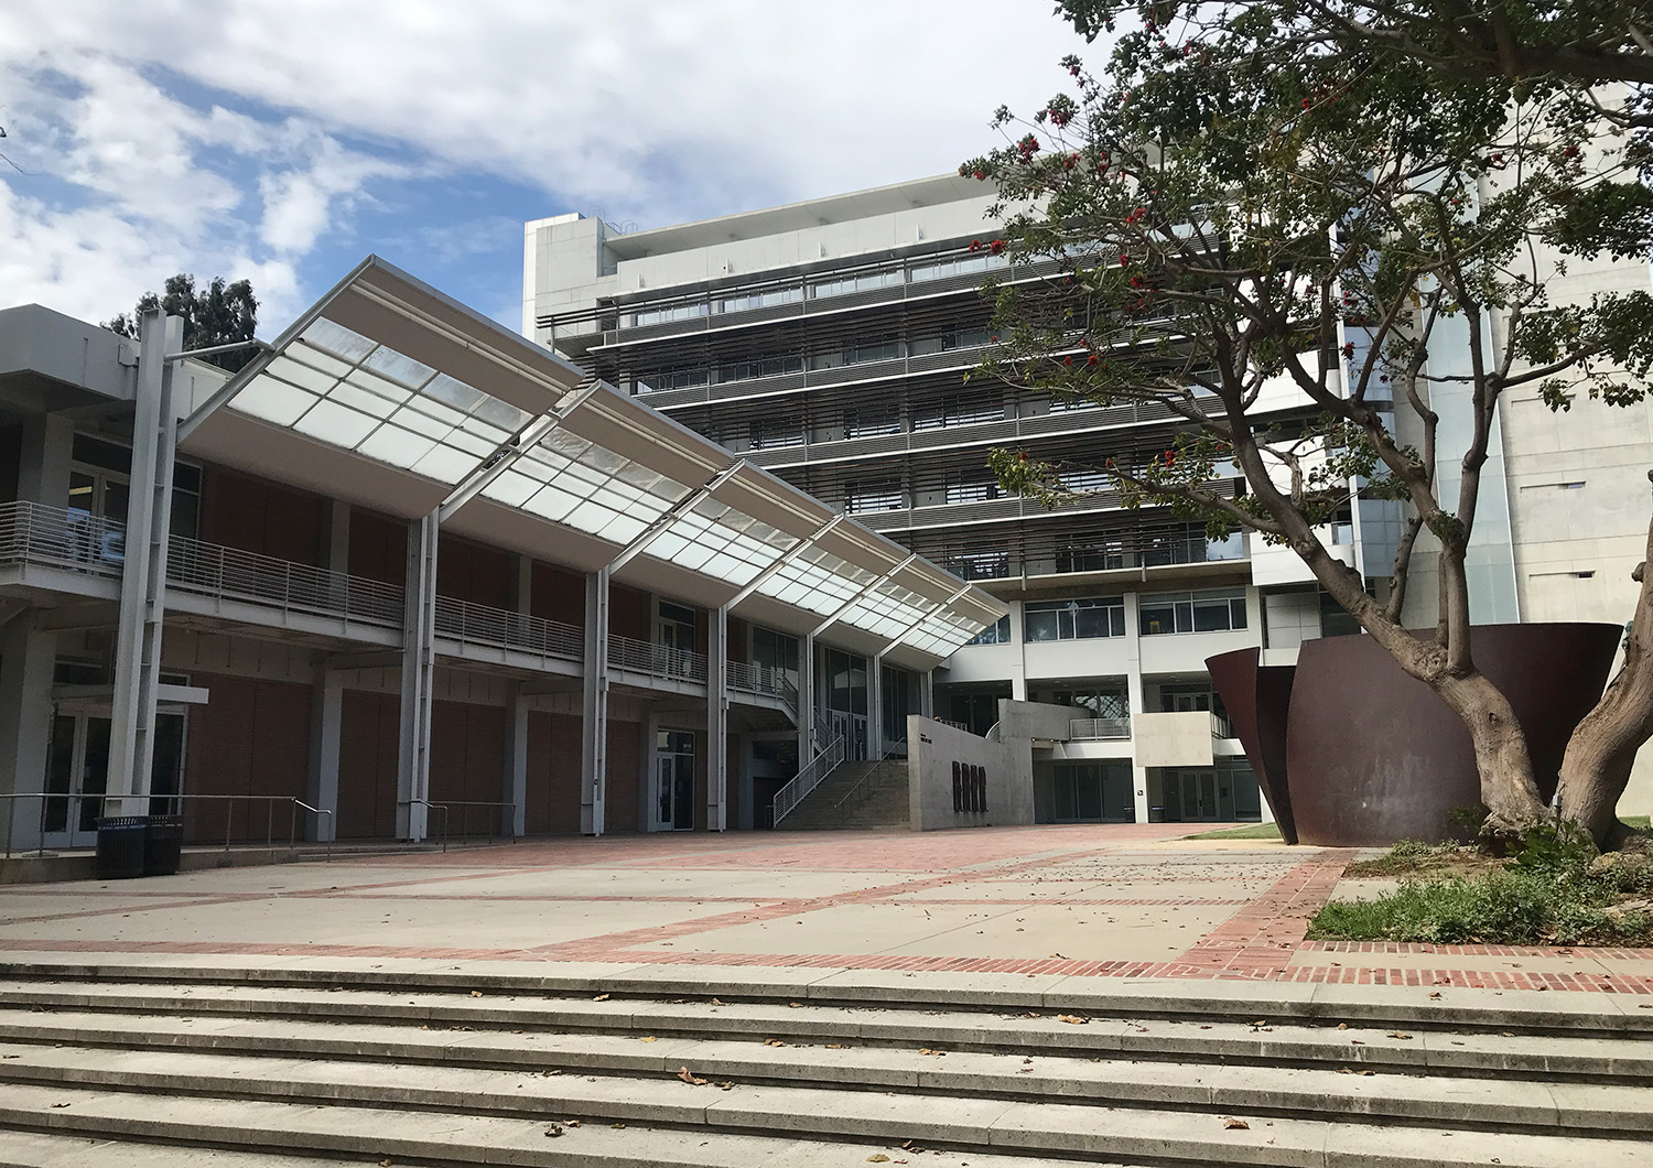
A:
[[[1007,144],[960,167],[998,187],[1012,256],[1056,264],[997,289],[1003,349],[984,372],[1182,423],[1152,458],[1073,468],[1003,449],[993,468],[1046,501],[1071,494],[1073,471],[1101,471],[1127,507],[1289,545],[1463,719],[1484,831],[1521,833],[1546,808],[1470,624],[1481,471],[1514,387],[1557,410],[1641,400],[1653,297],[1559,302],[1549,283],[1569,256],[1645,254],[1646,149],[1572,79],[1443,73],[1375,40],[1327,41],[1293,0],[1217,8],[1136,8],[1101,78],[1068,58],[1069,89],[1028,121],[1002,109]],[[1312,415],[1266,418],[1283,387]],[[1468,434],[1456,482],[1436,472],[1441,410]],[[1316,530],[1354,497],[1405,514],[1377,595]],[[1440,583],[1425,636],[1402,624],[1420,540],[1436,545]],[[1635,623],[1625,672],[1574,738],[1595,745],[1569,750],[1562,773],[1562,814],[1598,841],[1617,828],[1615,768],[1628,775],[1653,730],[1650,633],[1653,616]],[[1592,729],[1598,714],[1610,734]]]

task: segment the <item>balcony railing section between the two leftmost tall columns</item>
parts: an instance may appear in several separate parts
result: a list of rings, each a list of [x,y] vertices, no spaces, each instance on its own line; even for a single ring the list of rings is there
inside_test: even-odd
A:
[[[403,620],[402,590],[395,585],[182,535],[169,544],[167,586],[385,628],[402,628]]]

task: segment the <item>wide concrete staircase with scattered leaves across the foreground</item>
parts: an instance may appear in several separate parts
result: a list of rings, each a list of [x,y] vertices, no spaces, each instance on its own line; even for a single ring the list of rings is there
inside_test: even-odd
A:
[[[0,966],[0,1163],[1650,1163],[1653,1011],[1425,993]]]

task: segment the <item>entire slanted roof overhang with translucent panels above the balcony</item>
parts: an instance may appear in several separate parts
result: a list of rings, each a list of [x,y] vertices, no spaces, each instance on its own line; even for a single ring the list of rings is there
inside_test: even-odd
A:
[[[183,448],[580,572],[927,669],[1003,603],[369,258],[236,373]],[[769,572],[765,572],[769,570]]]

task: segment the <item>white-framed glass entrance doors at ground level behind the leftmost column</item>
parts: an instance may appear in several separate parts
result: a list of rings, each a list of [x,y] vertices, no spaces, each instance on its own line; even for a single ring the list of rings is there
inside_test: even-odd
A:
[[[155,714],[155,758],[149,772],[152,813],[175,810],[183,790],[185,714]],[[46,848],[93,848],[109,781],[112,724],[107,704],[58,702],[46,743]]]

